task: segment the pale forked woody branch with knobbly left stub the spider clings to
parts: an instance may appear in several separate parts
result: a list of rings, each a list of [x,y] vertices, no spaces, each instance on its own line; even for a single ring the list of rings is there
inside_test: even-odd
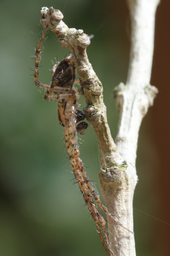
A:
[[[148,3],[149,2],[149,3]],[[103,197],[116,219],[133,230],[132,199],[137,183],[135,169],[138,130],[148,107],[157,93],[149,85],[153,55],[154,16],[158,0],[129,0],[131,14],[131,58],[126,86],[115,90],[120,113],[119,131],[115,145],[107,123],[103,103],[103,87],[87,58],[89,37],[83,30],[68,28],[59,10],[43,7],[41,23],[47,24],[75,58],[81,90],[87,107],[87,120],[95,129],[100,152],[100,183]],[[149,44],[148,44],[149,42]],[[117,149],[118,147],[118,149]],[[115,256],[135,256],[134,236],[108,218],[109,240]]]

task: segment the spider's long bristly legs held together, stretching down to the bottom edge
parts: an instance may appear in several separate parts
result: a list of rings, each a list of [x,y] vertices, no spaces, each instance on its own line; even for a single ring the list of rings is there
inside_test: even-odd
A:
[[[79,187],[80,187],[80,190],[85,199],[87,208],[88,208],[91,216],[95,220],[97,231],[98,231],[101,241],[104,245],[104,249],[106,250],[106,252],[108,254],[108,250],[107,250],[107,246],[108,246],[108,249],[109,249],[111,255],[114,256],[111,246],[109,244],[108,238],[107,238],[107,234],[106,234],[105,225],[107,223],[107,220],[99,212],[97,206],[95,205],[95,203],[92,199],[93,196],[91,195],[91,192],[89,189],[89,187],[91,185],[90,185],[89,180],[87,179],[87,175],[84,170],[82,161],[79,158],[80,152],[79,152],[77,136],[76,136],[76,111],[77,111],[76,107],[77,107],[77,104],[76,104],[76,96],[75,96],[72,98],[72,100],[70,100],[69,105],[66,107],[66,110],[65,110],[65,120],[64,120],[64,127],[65,127],[64,135],[65,136],[64,137],[65,137],[67,152],[68,152],[70,161],[72,163],[74,175],[77,178],[77,181],[79,183]],[[84,179],[84,177],[85,177],[85,179]],[[99,227],[99,223],[101,223],[101,225],[102,225],[102,230],[103,230],[105,240],[102,236],[101,229]]]

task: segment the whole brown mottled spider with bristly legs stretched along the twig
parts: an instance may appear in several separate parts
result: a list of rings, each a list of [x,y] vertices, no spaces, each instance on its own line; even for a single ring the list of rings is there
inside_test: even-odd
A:
[[[109,218],[114,220],[115,223],[122,226],[129,232],[131,231],[116,220],[103,205],[98,193],[95,191],[94,187],[89,181],[89,178],[87,177],[82,160],[79,158],[80,151],[77,143],[76,133],[79,132],[80,134],[84,134],[84,130],[87,128],[87,123],[83,121],[85,116],[83,112],[79,110],[80,105],[77,102],[79,93],[77,89],[73,87],[73,84],[77,83],[77,81],[75,81],[75,62],[71,58],[66,58],[63,59],[59,64],[55,64],[52,69],[52,80],[50,85],[43,84],[38,80],[41,44],[45,38],[47,29],[48,25],[46,26],[40,42],[36,47],[34,82],[36,86],[46,91],[44,95],[45,100],[58,100],[58,119],[61,126],[64,127],[64,139],[67,153],[72,164],[73,174],[77,179],[77,183],[87,205],[87,209],[96,223],[97,232],[100,235],[104,249],[108,256],[109,253],[111,256],[114,256],[107,237],[107,220],[98,210],[95,201]],[[82,122],[79,123],[80,121]]]

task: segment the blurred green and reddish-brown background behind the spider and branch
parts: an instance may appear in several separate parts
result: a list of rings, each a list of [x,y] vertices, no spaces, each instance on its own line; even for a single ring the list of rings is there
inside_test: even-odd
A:
[[[118,113],[112,91],[125,82],[130,49],[130,19],[124,1],[0,1],[0,255],[105,255],[95,223],[73,186],[64,149],[57,103],[43,101],[33,82],[34,46],[41,37],[40,10],[53,6],[64,13],[69,27],[94,34],[87,49],[102,81],[104,103],[113,138]],[[170,251],[169,189],[169,0],[158,7],[152,84],[159,95],[142,122],[138,152],[139,182],[134,197],[134,230],[138,256],[168,256]],[[48,32],[40,66],[40,81],[49,84],[52,62],[69,52]],[[85,106],[81,98],[81,107]],[[100,156],[91,126],[79,136],[81,158],[91,180],[98,184]],[[89,139],[90,138],[90,139]]]

